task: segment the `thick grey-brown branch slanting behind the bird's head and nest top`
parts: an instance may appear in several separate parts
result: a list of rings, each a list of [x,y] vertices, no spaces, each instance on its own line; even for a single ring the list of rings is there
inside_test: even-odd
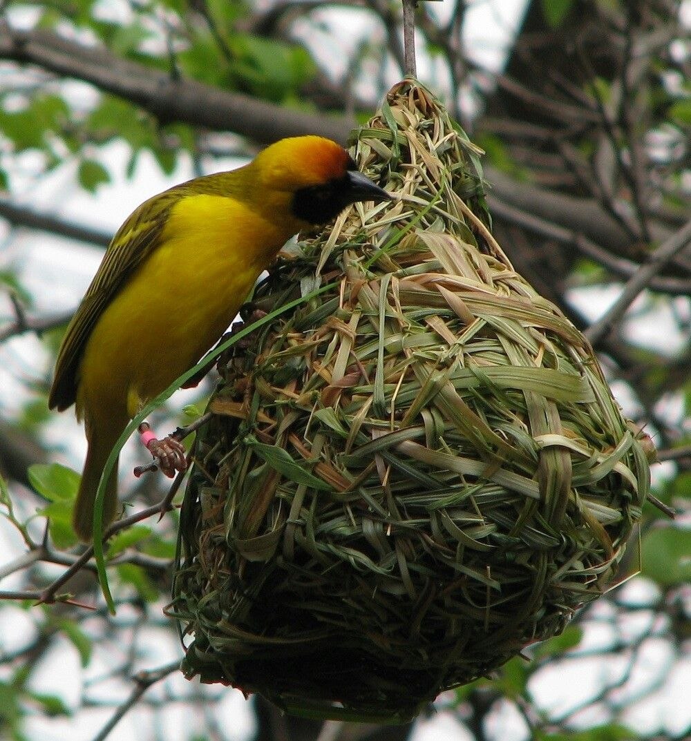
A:
[[[90,82],[140,105],[162,122],[177,121],[212,130],[231,130],[255,142],[267,144],[283,136],[305,133],[318,133],[337,142],[346,142],[351,130],[351,122],[343,117],[288,110],[194,80],[173,80],[144,64],[119,59],[104,48],[84,47],[50,31],[13,31],[7,25],[0,26],[0,59],[37,64],[44,70]],[[608,245],[615,253],[632,256],[629,236],[592,199],[518,183],[493,167],[486,168],[486,176],[497,199],[583,233],[596,244]],[[669,230],[653,228],[652,236],[662,241],[669,236]]]

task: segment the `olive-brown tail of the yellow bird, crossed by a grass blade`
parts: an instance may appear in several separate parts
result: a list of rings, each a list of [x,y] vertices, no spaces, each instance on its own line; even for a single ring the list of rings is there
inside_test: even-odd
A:
[[[82,471],[82,482],[79,485],[74,510],[72,513],[72,526],[75,533],[85,543],[91,542],[93,531],[93,505],[96,501],[96,491],[99,488],[101,473],[108,460],[110,451],[120,436],[120,430],[114,425],[104,431],[88,431],[89,448],[87,450],[84,471]],[[116,517],[118,503],[118,463],[115,462],[113,471],[108,477],[103,500],[103,527],[107,528]]]

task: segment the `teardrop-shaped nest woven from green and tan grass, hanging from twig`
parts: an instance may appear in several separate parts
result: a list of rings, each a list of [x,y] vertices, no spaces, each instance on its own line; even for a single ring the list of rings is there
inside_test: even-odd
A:
[[[399,198],[260,284],[219,363],[171,614],[188,677],[406,720],[563,630],[649,488],[592,349],[492,238],[478,150],[406,80],[354,133]],[[238,347],[242,344],[242,347]]]

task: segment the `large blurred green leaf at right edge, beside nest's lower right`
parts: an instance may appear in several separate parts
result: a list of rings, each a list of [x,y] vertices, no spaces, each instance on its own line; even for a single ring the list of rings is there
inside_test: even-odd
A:
[[[664,586],[691,581],[691,530],[670,525],[643,539],[643,574]]]

